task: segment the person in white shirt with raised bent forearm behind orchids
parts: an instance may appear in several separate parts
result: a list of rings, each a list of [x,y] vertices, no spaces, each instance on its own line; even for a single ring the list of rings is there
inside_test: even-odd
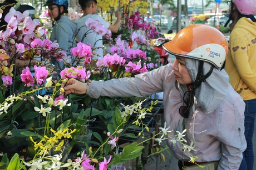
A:
[[[77,40],[78,42],[82,43],[90,43],[92,47],[100,47],[96,49],[97,55],[94,55],[92,59],[99,59],[100,57],[103,58],[103,44],[102,44],[102,35],[97,34],[95,32],[88,33],[86,37],[84,36],[88,29],[85,27],[85,22],[88,18],[98,20],[99,24],[103,24],[105,28],[110,29],[112,33],[117,33],[121,23],[121,13],[120,11],[115,12],[116,22],[114,25],[107,22],[104,18],[97,15],[97,1],[96,0],[78,0],[80,4],[83,15],[82,17],[78,18],[75,23],[77,24]],[[95,44],[96,43],[96,44]],[[93,63],[93,62],[92,62]]]

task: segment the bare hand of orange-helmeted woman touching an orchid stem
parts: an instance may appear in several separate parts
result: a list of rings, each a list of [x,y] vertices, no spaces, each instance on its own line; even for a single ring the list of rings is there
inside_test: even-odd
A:
[[[70,93],[85,94],[87,91],[87,84],[76,79],[70,79],[67,83],[62,83],[61,87],[64,87],[65,95]]]

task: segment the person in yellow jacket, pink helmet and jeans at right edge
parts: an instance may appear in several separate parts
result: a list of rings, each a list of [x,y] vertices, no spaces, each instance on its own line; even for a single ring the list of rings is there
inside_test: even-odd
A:
[[[239,169],[252,170],[253,133],[256,115],[256,11],[255,1],[232,0],[229,5],[229,50],[225,70],[234,90],[245,102],[245,131],[247,149]],[[233,28],[232,28],[233,27]]]

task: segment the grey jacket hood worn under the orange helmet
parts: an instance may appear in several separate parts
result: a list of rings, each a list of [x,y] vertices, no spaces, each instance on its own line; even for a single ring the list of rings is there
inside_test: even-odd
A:
[[[186,68],[194,83],[198,74],[199,60],[185,58]],[[204,62],[203,75],[208,73],[212,65]],[[213,72],[195,90],[194,106],[199,107],[204,114],[210,114],[222,102],[228,94],[229,76],[225,70],[213,69]],[[186,85],[178,84],[181,96],[187,91]]]

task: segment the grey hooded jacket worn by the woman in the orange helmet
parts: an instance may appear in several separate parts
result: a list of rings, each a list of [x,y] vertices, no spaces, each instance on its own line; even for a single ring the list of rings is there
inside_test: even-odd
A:
[[[198,60],[185,59],[191,79],[194,81]],[[204,63],[204,74],[210,70],[210,64]],[[183,94],[186,86],[175,86],[176,79],[171,64],[159,69],[136,75],[135,78],[112,79],[108,81],[92,81],[88,85],[88,95],[101,96],[146,96],[156,92],[164,92],[164,118],[170,135],[183,131],[183,117],[179,114],[183,106]],[[186,145],[194,143],[190,153],[198,156],[197,162],[220,161],[218,169],[239,169],[246,148],[244,137],[243,99],[229,84],[225,70],[213,69],[213,73],[195,91],[195,102],[185,120]],[[169,146],[173,155],[182,161],[183,150],[179,142]],[[190,161],[185,153],[184,161]]]

